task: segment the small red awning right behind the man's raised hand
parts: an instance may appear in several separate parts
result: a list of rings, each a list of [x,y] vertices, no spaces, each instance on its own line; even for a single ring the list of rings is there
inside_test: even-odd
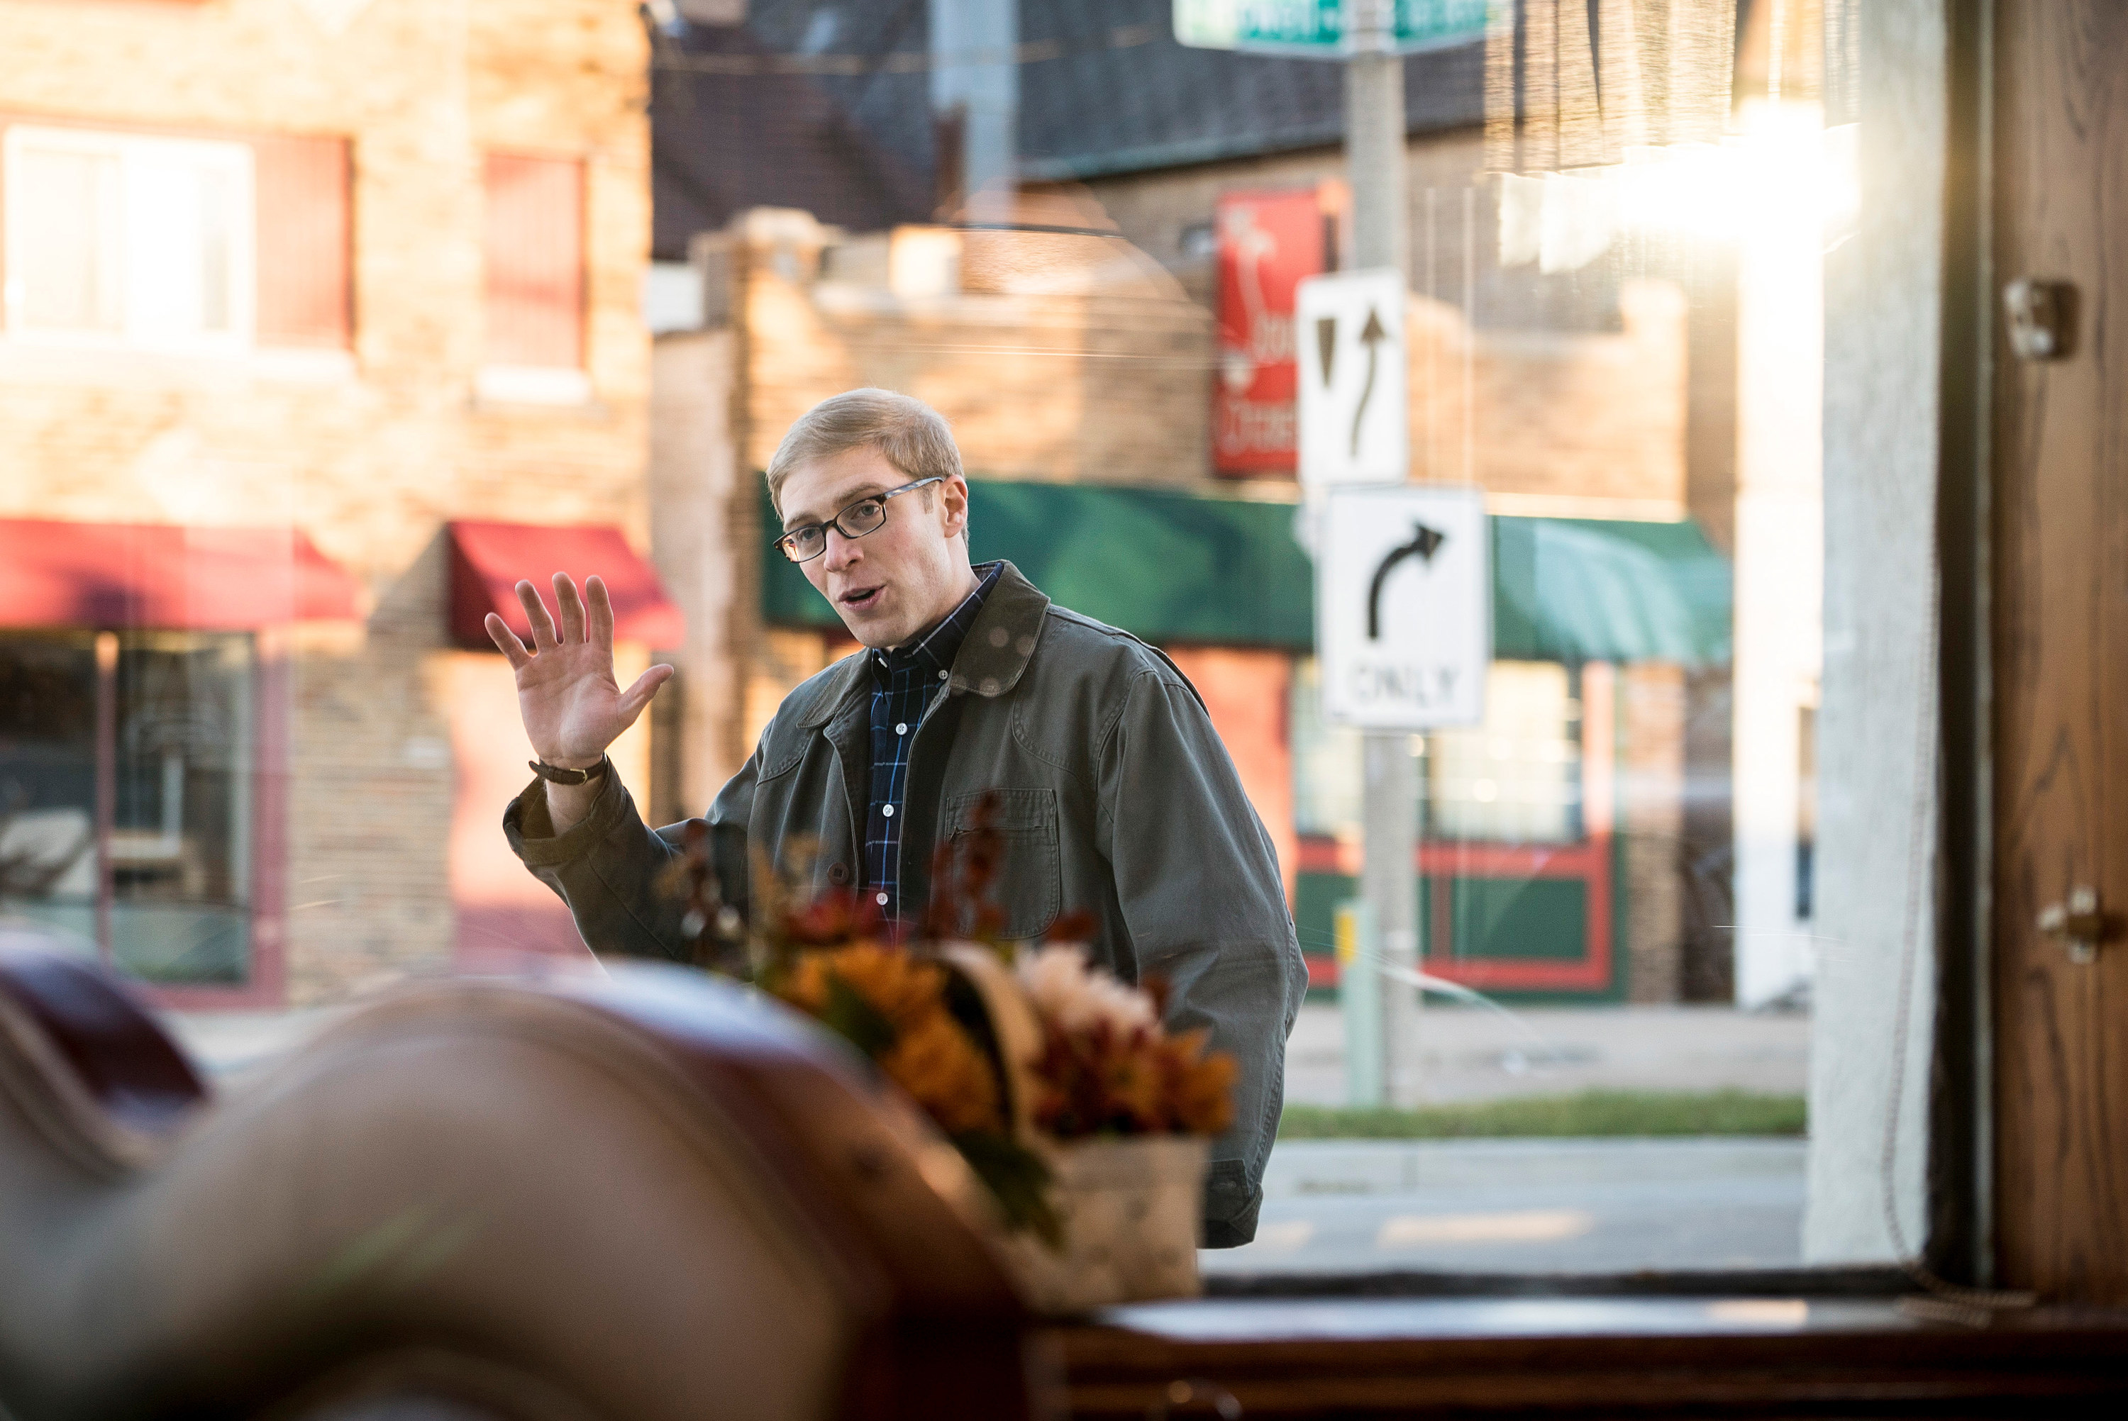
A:
[[[643,562],[619,528],[551,528],[543,523],[447,523],[451,532],[451,638],[460,647],[494,649],[483,621],[498,613],[526,642],[532,625],[517,604],[519,579],[538,587],[553,611],[553,574],[568,572],[577,587],[594,572],[613,598],[613,636],[647,647],[679,647],[687,619],[658,568]]]

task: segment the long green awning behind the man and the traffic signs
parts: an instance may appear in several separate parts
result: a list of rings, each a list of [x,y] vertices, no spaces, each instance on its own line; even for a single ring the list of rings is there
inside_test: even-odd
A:
[[[1315,645],[1313,566],[1294,504],[1090,483],[968,483],[977,562],[1009,557],[1036,587],[1149,642]],[[836,628],[775,551],[762,494],[762,617]],[[1524,662],[1719,664],[1730,566],[1696,523],[1492,519],[1494,655]]]

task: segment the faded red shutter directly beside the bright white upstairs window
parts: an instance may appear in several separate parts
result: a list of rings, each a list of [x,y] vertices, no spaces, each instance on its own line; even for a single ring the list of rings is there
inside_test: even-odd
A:
[[[345,138],[251,138],[257,206],[257,342],[347,347],[349,157]]]

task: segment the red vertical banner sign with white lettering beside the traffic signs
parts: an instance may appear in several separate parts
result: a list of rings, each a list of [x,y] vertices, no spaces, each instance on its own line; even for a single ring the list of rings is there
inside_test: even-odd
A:
[[[1315,187],[1219,198],[1219,368],[1211,383],[1211,462],[1228,477],[1298,468],[1294,287],[1328,266]]]

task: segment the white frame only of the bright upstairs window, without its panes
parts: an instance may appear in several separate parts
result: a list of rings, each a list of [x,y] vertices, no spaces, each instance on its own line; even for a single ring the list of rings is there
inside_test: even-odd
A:
[[[230,177],[230,328],[217,332],[192,332],[183,336],[145,330],[136,302],[132,302],[130,294],[123,289],[119,291],[121,315],[117,330],[23,328],[19,317],[23,291],[13,274],[17,270],[15,251],[21,240],[21,223],[36,221],[36,213],[26,211],[26,202],[19,200],[15,191],[13,174],[21,170],[19,160],[26,149],[57,149],[96,157],[117,157],[123,174],[121,189],[126,191],[132,189],[132,172],[136,166],[147,162],[168,162],[172,157],[181,157],[194,166],[226,170]],[[251,145],[213,138],[164,138],[92,128],[38,128],[32,123],[13,123],[6,130],[4,147],[0,147],[0,177],[6,181],[6,191],[0,191],[0,211],[6,215],[4,232],[0,232],[0,240],[6,243],[4,253],[0,253],[0,272],[6,272],[4,291],[0,291],[0,328],[4,328],[9,342],[72,349],[166,351],[185,355],[243,355],[251,351],[257,317],[257,202]],[[147,234],[138,230],[121,211],[117,249],[126,266],[134,264],[132,251],[138,240],[147,240]]]

